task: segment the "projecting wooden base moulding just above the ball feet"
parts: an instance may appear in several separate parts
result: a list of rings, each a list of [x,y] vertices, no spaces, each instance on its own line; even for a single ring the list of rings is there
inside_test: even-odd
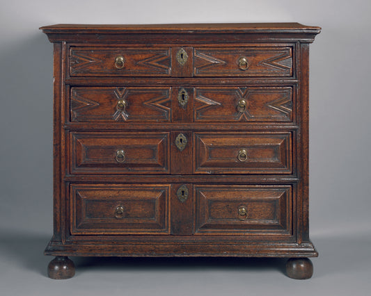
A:
[[[156,237],[157,240],[152,238]],[[313,245],[298,245],[296,243],[282,242],[282,236],[278,241],[270,239],[271,236],[262,236],[260,240],[266,239],[267,242],[251,242],[248,238],[244,241],[221,240],[218,236],[217,240],[205,240],[203,242],[195,241],[195,236],[187,236],[184,240],[178,242],[164,241],[163,236],[151,236],[143,242],[146,237],[143,237],[142,242],[120,242],[115,238],[111,240],[95,240],[76,241],[68,245],[55,245],[50,243],[45,250],[46,255],[52,256],[146,256],[146,257],[173,257],[173,256],[239,256],[239,257],[313,257],[317,256],[317,252]],[[115,243],[112,243],[115,240]],[[202,251],[200,251],[202,250]]]

